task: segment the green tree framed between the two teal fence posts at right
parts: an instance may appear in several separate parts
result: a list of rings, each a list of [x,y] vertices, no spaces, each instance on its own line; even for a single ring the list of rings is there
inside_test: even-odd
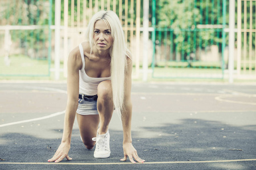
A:
[[[158,9],[156,28],[170,28],[173,31],[173,42],[170,42],[170,38],[163,42],[172,44],[176,52],[183,52],[183,55],[187,56],[195,52],[197,46],[204,49],[210,44],[221,42],[222,29],[200,27],[205,24],[222,24],[221,1],[160,0],[156,2]]]

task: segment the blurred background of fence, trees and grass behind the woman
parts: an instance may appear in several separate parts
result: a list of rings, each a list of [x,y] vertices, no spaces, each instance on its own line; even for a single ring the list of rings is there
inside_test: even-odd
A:
[[[255,6],[242,0],[1,0],[0,80],[65,80],[93,14],[113,10],[133,79],[255,82]]]

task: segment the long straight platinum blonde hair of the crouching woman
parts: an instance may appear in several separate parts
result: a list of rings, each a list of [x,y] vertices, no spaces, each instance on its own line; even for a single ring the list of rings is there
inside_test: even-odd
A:
[[[110,47],[109,54],[111,57],[111,82],[113,91],[113,103],[116,109],[123,109],[123,99],[125,90],[125,72],[127,67],[126,56],[130,57],[129,50],[126,48],[125,36],[123,34],[122,25],[117,14],[113,11],[99,11],[93,15],[85,32],[85,39],[89,41],[92,52],[94,24],[97,20],[104,20],[109,25],[113,44]]]

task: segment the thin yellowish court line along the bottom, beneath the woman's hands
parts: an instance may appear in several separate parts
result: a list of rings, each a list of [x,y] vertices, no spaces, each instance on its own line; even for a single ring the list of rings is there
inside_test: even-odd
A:
[[[247,162],[256,159],[234,159],[234,160],[203,160],[203,161],[174,161],[174,162],[144,162],[143,164],[180,164],[180,163],[225,163],[225,162]],[[119,163],[46,163],[46,162],[0,162],[0,164],[32,164],[32,165],[122,165],[133,164],[128,162]]]

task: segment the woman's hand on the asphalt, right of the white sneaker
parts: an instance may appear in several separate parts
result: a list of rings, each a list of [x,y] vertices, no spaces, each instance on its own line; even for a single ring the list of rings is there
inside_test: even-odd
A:
[[[144,163],[145,160],[139,158],[138,154],[137,154],[137,150],[135,150],[135,148],[133,147],[133,145],[131,143],[123,143],[123,159],[120,159],[121,161],[126,161],[127,156],[129,156],[129,159],[131,161],[131,163],[136,163],[133,158],[135,160],[137,160],[137,162],[139,163]]]

